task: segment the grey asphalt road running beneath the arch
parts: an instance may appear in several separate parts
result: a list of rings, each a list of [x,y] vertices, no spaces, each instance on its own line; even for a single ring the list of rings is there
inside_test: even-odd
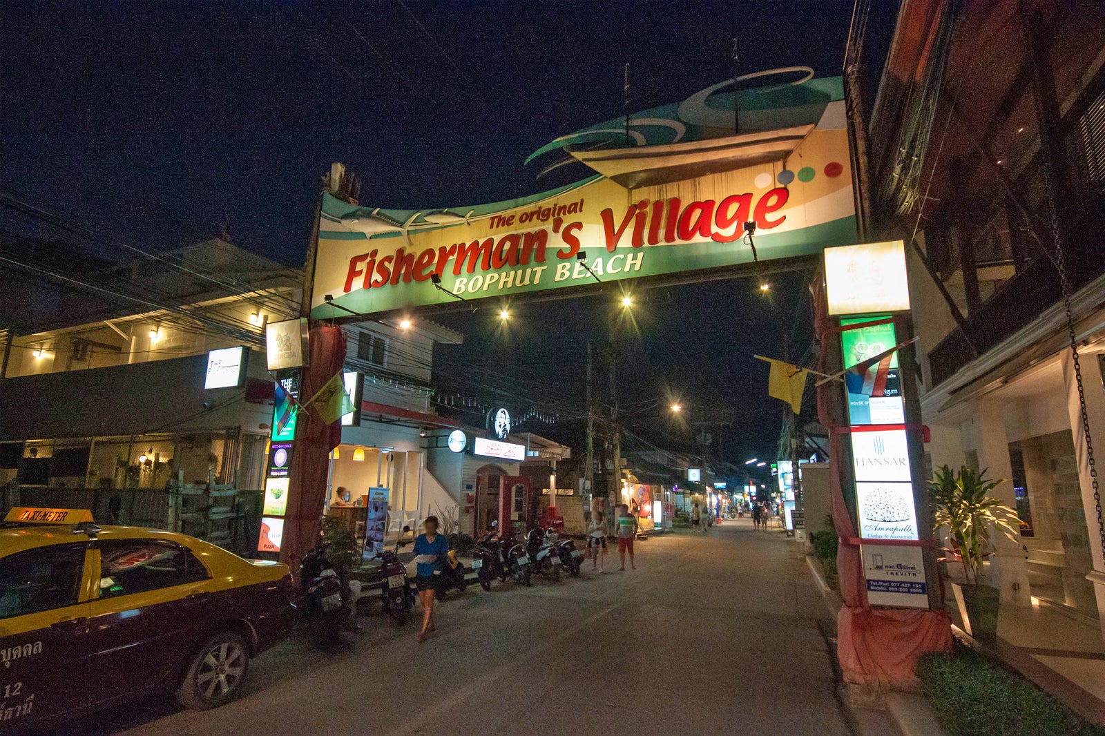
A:
[[[603,575],[587,562],[559,583],[452,593],[423,644],[413,619],[368,617],[337,651],[296,639],[262,654],[215,711],[147,698],[73,733],[854,733],[798,545],[729,521],[636,551],[633,571],[617,571],[611,550]]]

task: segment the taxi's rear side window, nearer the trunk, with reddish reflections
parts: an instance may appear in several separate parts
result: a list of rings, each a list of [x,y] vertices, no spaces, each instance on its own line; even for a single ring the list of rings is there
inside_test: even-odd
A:
[[[207,580],[207,568],[179,545],[150,539],[99,545],[99,597],[114,598]]]

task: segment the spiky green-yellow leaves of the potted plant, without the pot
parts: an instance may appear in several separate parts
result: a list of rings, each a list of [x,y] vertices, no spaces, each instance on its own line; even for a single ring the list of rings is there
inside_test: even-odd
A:
[[[986,470],[976,473],[962,466],[956,473],[944,465],[928,482],[933,525],[946,529],[945,549],[962,564],[967,582],[976,586],[982,572],[982,559],[990,554],[993,532],[1015,540],[1014,525],[1021,523],[1017,512],[989,495],[1004,481],[988,480]]]

